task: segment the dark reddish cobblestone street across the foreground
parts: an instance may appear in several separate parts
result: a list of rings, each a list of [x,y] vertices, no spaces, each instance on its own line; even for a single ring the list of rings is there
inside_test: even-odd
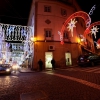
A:
[[[100,100],[100,68],[0,76],[0,100]]]

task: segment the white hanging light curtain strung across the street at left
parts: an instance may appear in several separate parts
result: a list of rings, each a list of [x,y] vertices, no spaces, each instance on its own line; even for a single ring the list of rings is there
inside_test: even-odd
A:
[[[0,23],[0,34],[3,34],[6,41],[24,41],[27,35],[32,34],[32,28],[30,26],[10,25]]]

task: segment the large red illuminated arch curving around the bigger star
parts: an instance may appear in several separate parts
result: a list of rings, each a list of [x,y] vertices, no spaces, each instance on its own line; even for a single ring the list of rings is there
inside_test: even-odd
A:
[[[64,33],[65,28],[66,28],[66,25],[68,24],[68,22],[71,19],[73,19],[75,17],[81,17],[81,18],[83,18],[84,21],[85,21],[86,27],[89,27],[90,26],[91,18],[90,18],[90,16],[86,12],[83,12],[83,11],[75,12],[70,17],[68,17],[68,19],[62,25],[61,32],[58,33],[60,35],[61,44],[64,44],[64,42],[63,42],[63,33]]]

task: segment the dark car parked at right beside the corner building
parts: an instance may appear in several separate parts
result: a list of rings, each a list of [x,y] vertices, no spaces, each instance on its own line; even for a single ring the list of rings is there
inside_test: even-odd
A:
[[[80,55],[77,64],[79,66],[94,66],[100,64],[100,56],[96,54]]]

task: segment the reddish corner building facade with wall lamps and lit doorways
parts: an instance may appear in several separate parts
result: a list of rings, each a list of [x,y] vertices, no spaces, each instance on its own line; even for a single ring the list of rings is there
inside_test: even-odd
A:
[[[38,60],[44,62],[43,68],[51,68],[51,59],[56,61],[56,67],[67,67],[77,64],[80,54],[95,52],[91,34],[86,36],[86,42],[82,41],[85,22],[77,17],[76,27],[71,33],[67,26],[63,33],[64,44],[60,43],[62,25],[75,12],[81,10],[75,0],[66,3],[60,0],[33,0],[28,26],[33,28],[36,42],[33,43],[33,68],[38,68]],[[72,36],[73,34],[73,36]]]

